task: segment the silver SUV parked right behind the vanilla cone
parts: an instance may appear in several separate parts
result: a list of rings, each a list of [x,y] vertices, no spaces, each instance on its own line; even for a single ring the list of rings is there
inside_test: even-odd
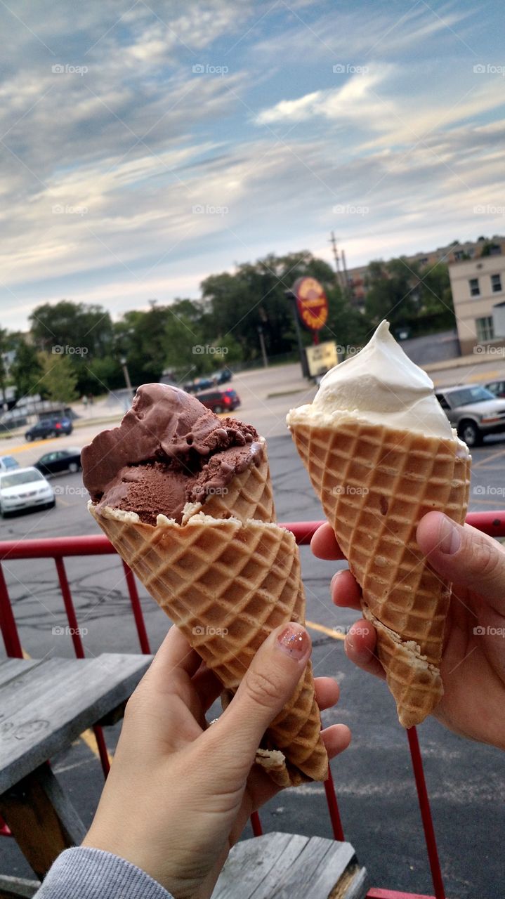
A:
[[[480,446],[486,434],[505,431],[505,399],[497,399],[486,387],[458,384],[437,388],[435,396],[467,446]]]

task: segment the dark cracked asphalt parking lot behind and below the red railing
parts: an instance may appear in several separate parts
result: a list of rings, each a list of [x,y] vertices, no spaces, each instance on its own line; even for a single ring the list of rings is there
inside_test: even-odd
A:
[[[289,401],[289,397],[284,397],[284,406]],[[297,405],[300,402],[297,396],[294,401]],[[279,410],[281,405],[279,401]],[[280,411],[277,417],[280,418]],[[272,430],[277,434],[270,437],[269,448],[279,521],[321,519],[319,503],[288,434],[277,433],[277,423]],[[82,443],[78,432],[65,440],[68,445]],[[30,460],[52,449],[51,444],[54,441],[31,446]],[[473,455],[471,511],[504,508],[505,438],[490,439]],[[29,457],[24,458],[28,461]],[[86,511],[81,476],[58,476],[52,484],[58,494],[56,509],[1,521],[1,539],[98,531]],[[343,721],[350,725],[353,734],[348,752],[332,763],[346,837],[358,851],[359,860],[368,867],[374,886],[430,893],[411,761],[405,734],[395,717],[393,699],[384,684],[348,662],[342,640],[338,634],[332,634],[332,628],[343,632],[357,618],[355,612],[336,610],[330,602],[328,587],[336,565],[315,560],[308,547],[302,548],[301,556],[307,619],[323,628],[311,629],[315,673],[331,675],[341,685],[339,707],[324,713],[324,723]],[[66,567],[79,625],[86,631],[86,652],[137,652],[137,636],[117,557],[98,556],[93,564],[89,558],[72,558]],[[6,560],[4,573],[25,652],[38,658],[51,653],[72,655],[70,637],[58,633],[66,620],[51,560]],[[168,620],[146,593],[140,592],[148,636],[155,650]],[[214,712],[211,714],[214,717]],[[118,726],[108,731],[111,752],[118,734]],[[421,725],[419,734],[447,895],[451,899],[501,899],[503,755],[492,747],[449,734],[435,720]],[[54,760],[54,767],[84,821],[89,822],[102,782],[99,763],[89,744],[78,741]],[[134,808],[131,814],[135,814]],[[321,785],[310,784],[279,795],[262,811],[261,819],[265,831],[332,835]],[[30,877],[13,841],[3,840],[1,849],[3,872]]]

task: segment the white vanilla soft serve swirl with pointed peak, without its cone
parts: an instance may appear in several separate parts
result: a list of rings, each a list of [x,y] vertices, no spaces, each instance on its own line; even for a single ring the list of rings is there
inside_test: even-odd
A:
[[[360,352],[324,375],[313,403],[291,409],[288,425],[312,421],[334,427],[349,417],[457,440],[433,382],[405,355],[385,321]]]

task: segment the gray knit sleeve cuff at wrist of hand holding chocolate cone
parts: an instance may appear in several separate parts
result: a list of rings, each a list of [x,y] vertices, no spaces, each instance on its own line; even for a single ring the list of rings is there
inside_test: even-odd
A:
[[[33,899],[173,899],[161,884],[111,852],[67,849],[49,868]]]

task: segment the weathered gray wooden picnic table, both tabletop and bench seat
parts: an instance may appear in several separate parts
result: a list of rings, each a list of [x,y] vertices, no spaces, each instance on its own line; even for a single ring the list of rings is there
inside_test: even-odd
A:
[[[84,824],[47,761],[88,727],[111,724],[150,656],[0,662],[0,814],[40,878],[78,845]],[[0,899],[39,883],[0,875]],[[237,843],[213,899],[364,899],[367,873],[348,842],[267,833]]]

